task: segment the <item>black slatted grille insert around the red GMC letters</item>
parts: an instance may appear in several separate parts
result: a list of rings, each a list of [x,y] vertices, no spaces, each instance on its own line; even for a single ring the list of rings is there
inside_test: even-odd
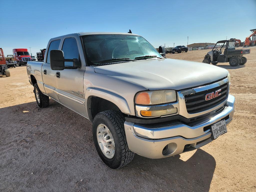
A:
[[[221,89],[220,96],[205,100],[206,94],[215,92]],[[201,111],[208,110],[214,106],[222,103],[228,97],[228,83],[222,84],[221,86],[208,89],[205,91],[200,91],[194,94],[184,95],[186,108],[188,113],[198,113]]]

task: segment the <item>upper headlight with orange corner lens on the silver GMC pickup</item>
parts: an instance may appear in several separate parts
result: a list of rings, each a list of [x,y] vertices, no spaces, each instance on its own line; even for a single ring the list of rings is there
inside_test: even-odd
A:
[[[177,100],[175,90],[143,91],[136,95],[135,103],[140,105],[155,105],[170,103]]]

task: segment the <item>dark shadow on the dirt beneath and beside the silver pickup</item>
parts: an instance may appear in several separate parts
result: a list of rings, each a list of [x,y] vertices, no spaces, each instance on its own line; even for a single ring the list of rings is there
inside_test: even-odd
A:
[[[15,191],[31,186],[45,189],[40,191],[105,191],[105,185],[108,191],[209,191],[216,167],[213,156],[197,149],[187,152],[193,154],[187,161],[180,155],[148,159],[135,154],[130,164],[110,169],[95,150],[92,123],[52,99],[44,109],[36,102],[0,108],[0,124],[1,173],[10,176],[3,186]]]

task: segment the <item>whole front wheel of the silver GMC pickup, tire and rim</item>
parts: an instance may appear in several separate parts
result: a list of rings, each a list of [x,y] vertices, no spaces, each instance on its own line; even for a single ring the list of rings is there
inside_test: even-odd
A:
[[[127,145],[124,121],[124,116],[114,110],[100,112],[93,120],[96,150],[102,161],[112,169],[127,165],[134,157]]]

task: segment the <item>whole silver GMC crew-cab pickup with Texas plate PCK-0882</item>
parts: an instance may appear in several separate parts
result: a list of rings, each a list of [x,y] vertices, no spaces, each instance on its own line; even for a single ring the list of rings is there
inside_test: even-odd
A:
[[[226,69],[166,59],[131,33],[76,33],[50,39],[44,62],[27,63],[39,107],[49,97],[92,122],[102,161],[115,169],[134,154],[164,158],[227,132],[235,98]]]

